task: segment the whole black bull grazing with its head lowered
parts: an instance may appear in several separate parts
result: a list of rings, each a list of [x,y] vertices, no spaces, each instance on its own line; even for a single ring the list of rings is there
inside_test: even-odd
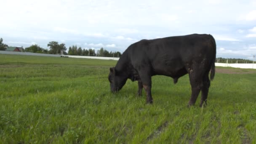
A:
[[[152,103],[151,77],[165,75],[177,83],[179,77],[189,74],[192,94],[189,106],[194,105],[200,91],[200,106],[206,104],[210,78],[215,74],[216,43],[211,35],[184,35],[141,40],[130,45],[110,68],[108,76],[112,92],[119,91],[126,80],[137,80],[141,96],[142,88],[147,93],[147,103]]]

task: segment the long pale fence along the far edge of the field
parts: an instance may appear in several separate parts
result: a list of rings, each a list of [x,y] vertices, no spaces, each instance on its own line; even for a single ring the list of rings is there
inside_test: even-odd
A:
[[[59,54],[45,54],[45,53],[28,53],[28,52],[16,52],[16,51],[0,51],[2,54],[18,54],[18,55],[29,55],[29,56],[54,56],[54,57],[61,57]],[[118,61],[119,58],[114,57],[101,57],[101,56],[70,56],[64,55],[70,58],[85,58],[85,59],[111,59]],[[236,68],[243,68],[243,69],[256,69],[256,64],[227,64],[227,63],[215,63],[217,67],[236,67]]]

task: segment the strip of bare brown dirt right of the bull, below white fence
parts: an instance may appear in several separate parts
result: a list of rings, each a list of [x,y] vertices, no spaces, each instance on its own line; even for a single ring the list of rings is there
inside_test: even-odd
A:
[[[215,72],[222,74],[253,74],[256,73],[254,69],[225,69],[225,68],[216,68]]]

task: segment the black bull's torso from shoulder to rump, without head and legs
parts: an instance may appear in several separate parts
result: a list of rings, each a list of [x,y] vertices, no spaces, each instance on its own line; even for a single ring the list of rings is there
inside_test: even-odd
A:
[[[202,61],[205,57],[213,59],[212,39],[211,35],[193,34],[141,40],[133,44],[131,60],[135,67],[150,67],[154,75],[176,77],[179,72],[184,73],[186,64],[191,61]]]

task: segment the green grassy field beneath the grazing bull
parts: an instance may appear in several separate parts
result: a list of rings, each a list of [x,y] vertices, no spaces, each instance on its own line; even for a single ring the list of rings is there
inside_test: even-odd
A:
[[[0,54],[0,143],[256,143],[256,70],[218,67],[188,108],[188,75],[153,77],[152,105],[131,80],[112,94],[116,62]]]

